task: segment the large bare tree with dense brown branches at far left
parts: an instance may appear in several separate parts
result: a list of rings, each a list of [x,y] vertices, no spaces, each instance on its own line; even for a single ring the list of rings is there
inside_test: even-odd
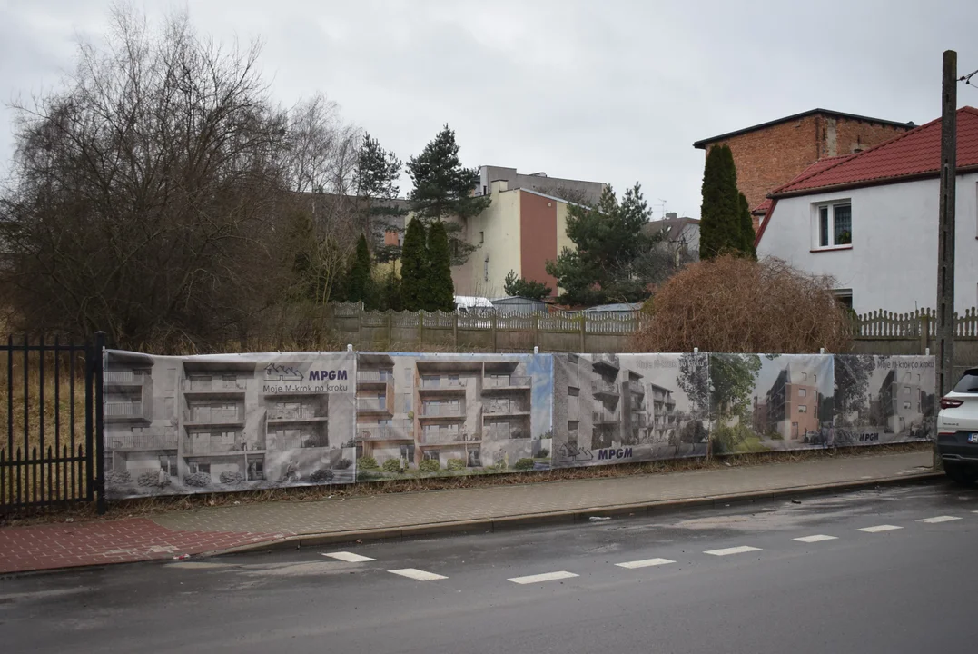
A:
[[[288,122],[258,53],[116,7],[64,90],[15,106],[2,283],[22,327],[206,338],[274,297]]]

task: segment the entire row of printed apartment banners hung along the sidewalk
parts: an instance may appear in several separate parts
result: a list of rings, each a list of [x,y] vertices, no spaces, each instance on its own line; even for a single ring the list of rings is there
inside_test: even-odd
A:
[[[933,439],[934,358],[110,350],[110,498]]]

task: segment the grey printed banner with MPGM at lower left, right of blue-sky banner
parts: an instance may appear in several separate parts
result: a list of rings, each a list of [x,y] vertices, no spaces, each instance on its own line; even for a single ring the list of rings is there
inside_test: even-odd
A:
[[[705,457],[705,354],[554,358],[554,466]]]

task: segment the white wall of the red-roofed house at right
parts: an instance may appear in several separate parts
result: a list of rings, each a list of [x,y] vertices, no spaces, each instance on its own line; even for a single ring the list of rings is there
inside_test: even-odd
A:
[[[958,311],[978,304],[978,174],[957,178]],[[852,203],[852,248],[813,252],[814,204]],[[853,309],[906,313],[933,308],[937,295],[937,179],[778,200],[758,255],[776,256],[808,273],[852,288]]]

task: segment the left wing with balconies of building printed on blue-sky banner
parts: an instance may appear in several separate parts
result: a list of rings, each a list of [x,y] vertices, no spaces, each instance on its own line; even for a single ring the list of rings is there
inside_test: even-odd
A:
[[[407,380],[410,385],[411,380]],[[415,461],[410,394],[398,392],[394,359],[386,354],[357,355],[357,457]]]

